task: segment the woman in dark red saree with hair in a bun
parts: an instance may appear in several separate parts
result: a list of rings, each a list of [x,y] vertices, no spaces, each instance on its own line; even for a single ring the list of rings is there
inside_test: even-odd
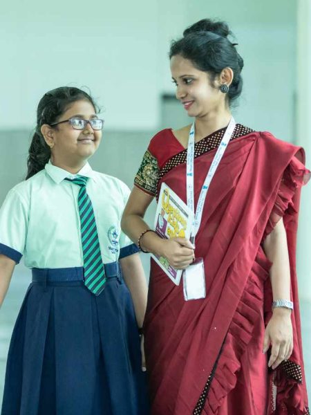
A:
[[[194,124],[153,137],[122,219],[142,250],[187,268],[186,277],[195,269],[206,286],[206,296],[185,301],[182,282],[151,261],[144,335],[153,415],[309,413],[294,259],[308,170],[301,148],[232,119],[243,59],[228,35],[223,22],[202,20],[171,45],[176,98]],[[195,248],[161,239],[143,220],[163,182],[196,212]],[[189,266],[194,257],[205,272]]]

